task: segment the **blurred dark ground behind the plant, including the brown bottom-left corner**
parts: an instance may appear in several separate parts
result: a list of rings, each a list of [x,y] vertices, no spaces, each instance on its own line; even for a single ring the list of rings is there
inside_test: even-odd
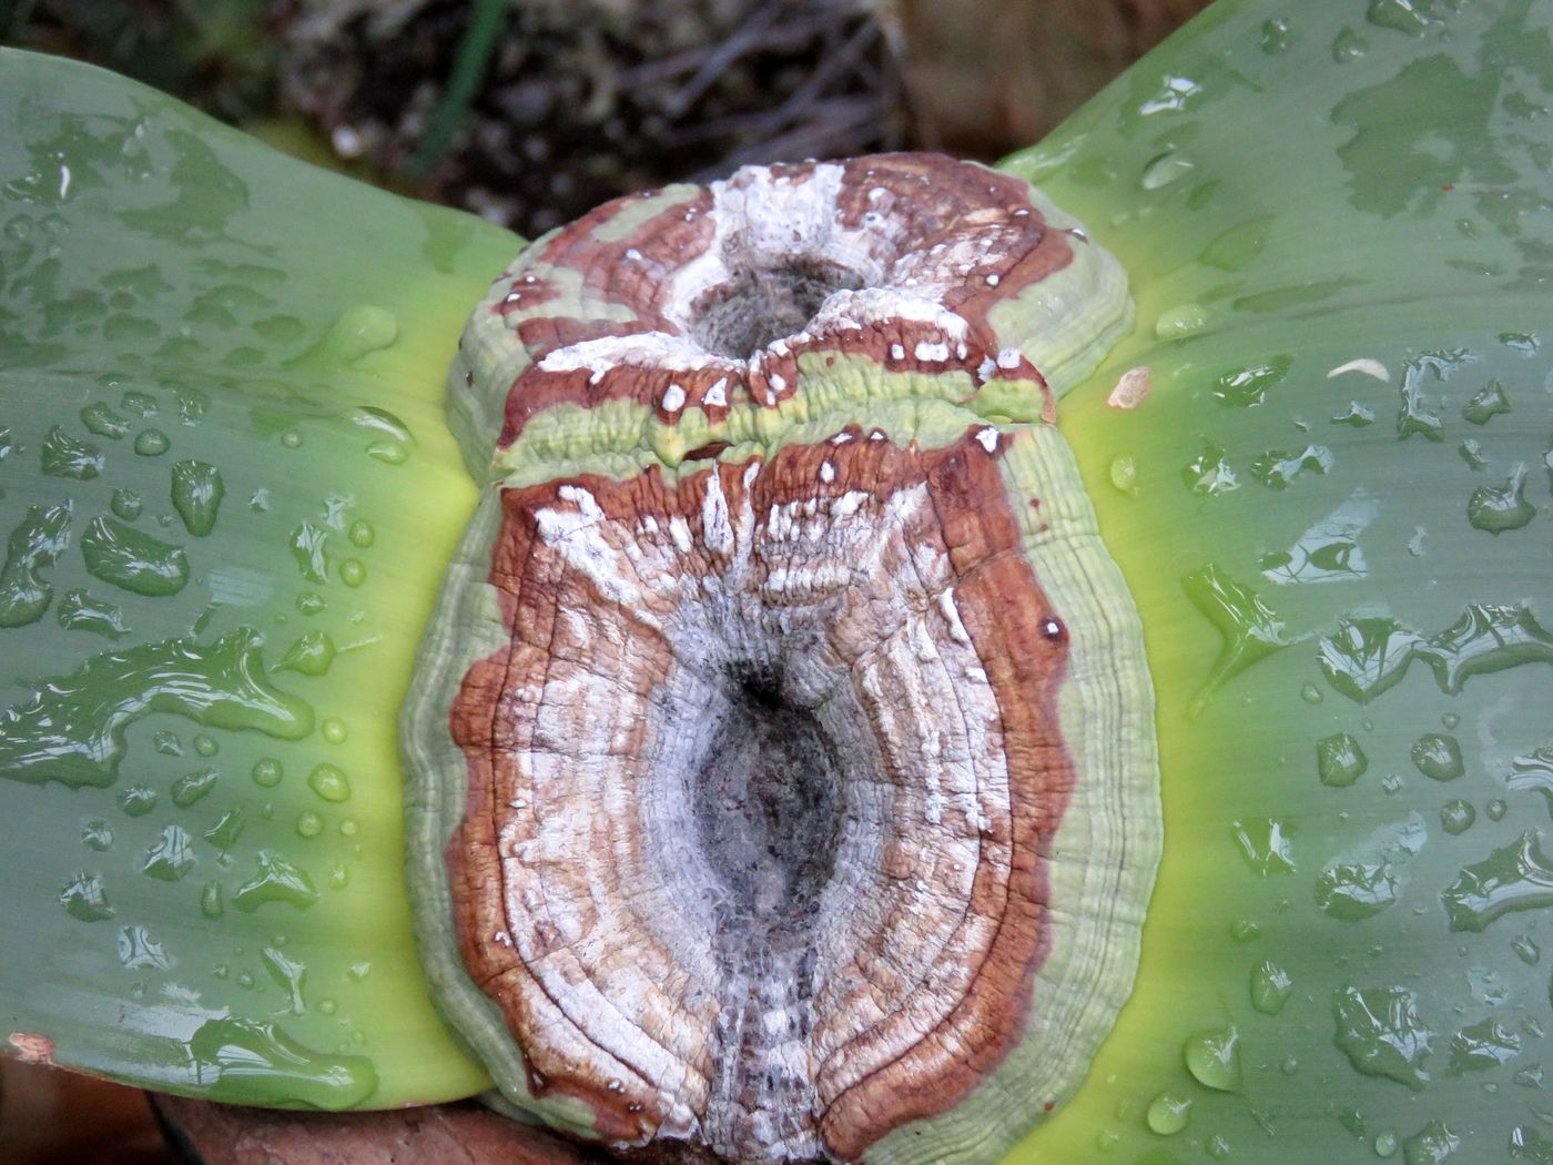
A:
[[[534,236],[745,163],[994,160],[1207,2],[0,0],[0,43]],[[177,1157],[140,1094],[0,1058],[0,1160]]]

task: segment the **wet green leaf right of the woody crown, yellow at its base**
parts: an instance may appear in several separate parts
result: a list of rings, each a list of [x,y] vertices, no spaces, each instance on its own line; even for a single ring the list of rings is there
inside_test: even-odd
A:
[[[1143,615],[1166,814],[1137,991],[1016,1159],[1541,1143],[1550,143],[1553,5],[1227,0],[1005,163],[1132,280],[1059,423]],[[1516,1050],[1452,1070],[1489,1021]],[[1205,1028],[1236,1090],[1190,1070]]]

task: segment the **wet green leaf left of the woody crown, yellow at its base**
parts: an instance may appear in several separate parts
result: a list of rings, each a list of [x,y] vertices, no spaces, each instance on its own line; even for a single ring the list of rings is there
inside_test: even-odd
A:
[[[474,488],[443,424],[520,241],[0,51],[0,1011],[228,1101],[483,1072],[401,875],[410,657]]]

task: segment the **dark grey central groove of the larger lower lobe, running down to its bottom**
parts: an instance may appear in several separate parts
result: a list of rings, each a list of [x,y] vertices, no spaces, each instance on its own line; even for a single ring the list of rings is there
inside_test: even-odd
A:
[[[803,1160],[818,1149],[817,1103],[794,1066],[806,1067],[814,1025],[812,930],[836,862],[842,764],[776,677],[735,677],[722,716],[694,786],[699,840],[721,881],[713,949],[725,979],[704,1134],[736,1160],[775,1129]],[[789,1044],[798,1055],[783,1055]]]

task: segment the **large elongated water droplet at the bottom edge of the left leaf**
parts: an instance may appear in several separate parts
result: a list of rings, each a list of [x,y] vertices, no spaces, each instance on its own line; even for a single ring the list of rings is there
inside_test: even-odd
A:
[[[334,1112],[377,1090],[365,1056],[314,1052],[269,1022],[210,1019],[189,1038],[188,1055],[203,1095],[231,1104]]]

